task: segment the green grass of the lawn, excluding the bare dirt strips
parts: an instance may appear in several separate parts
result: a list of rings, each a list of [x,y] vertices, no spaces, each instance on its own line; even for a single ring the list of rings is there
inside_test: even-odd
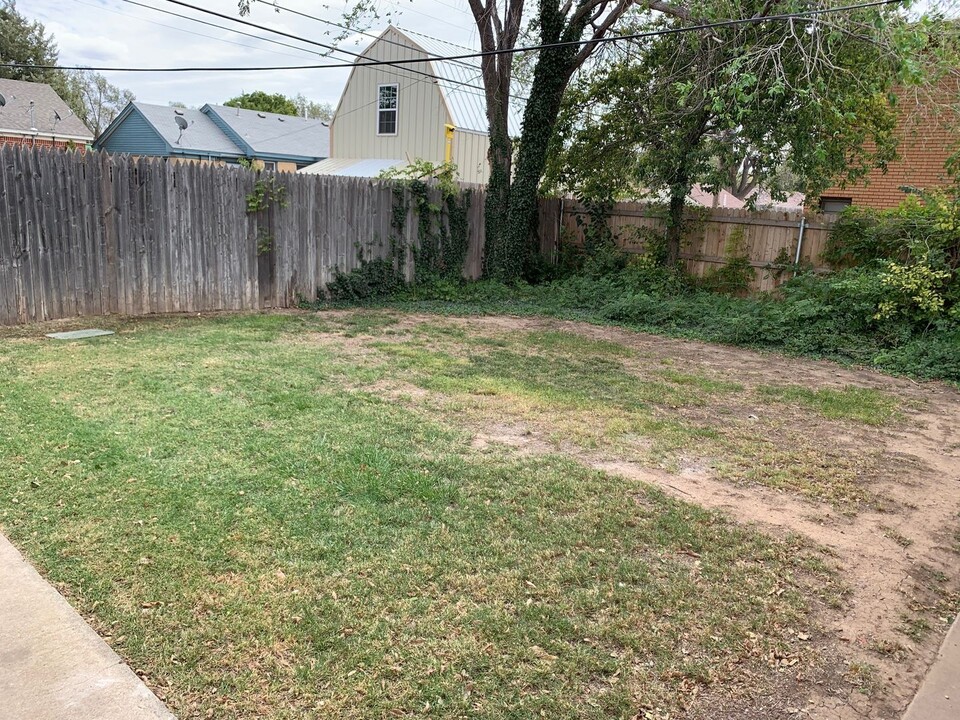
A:
[[[671,404],[736,388],[555,333],[524,353],[330,325],[0,340],[0,526],[179,716],[683,714],[705,687],[762,689],[766,658],[815,661],[792,638],[834,579],[810,548],[560,454],[475,453],[382,384],[675,442],[718,431]]]

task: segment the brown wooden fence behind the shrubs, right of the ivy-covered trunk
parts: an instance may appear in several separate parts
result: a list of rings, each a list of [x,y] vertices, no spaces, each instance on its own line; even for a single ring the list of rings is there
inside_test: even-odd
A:
[[[777,268],[796,260],[798,243],[801,262],[823,269],[820,253],[835,219],[835,214],[804,214],[801,210],[689,208],[680,257],[688,272],[703,276],[726,264],[733,255],[745,255],[756,271],[751,289],[772,290],[790,277],[789,273],[777,272]],[[587,211],[574,201],[544,200],[540,210],[541,251],[548,257],[556,252],[558,238],[582,245],[589,222]],[[666,232],[666,211],[643,203],[617,203],[607,226],[626,252],[643,253],[650,234],[662,237]]]

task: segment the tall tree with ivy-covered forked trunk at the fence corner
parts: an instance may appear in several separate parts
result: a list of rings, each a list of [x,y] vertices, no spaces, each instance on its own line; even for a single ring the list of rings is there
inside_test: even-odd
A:
[[[484,53],[509,53],[515,49],[527,6],[533,6],[526,26],[547,47],[537,52],[533,79],[524,107],[523,125],[517,143],[511,141],[507,125],[513,64],[509,54],[486,54],[481,59],[490,133],[490,181],[487,195],[486,274],[512,279],[529,267],[535,257],[531,242],[537,221],[537,194],[547,164],[548,151],[556,128],[564,94],[575,74],[594,56],[600,42],[620,33],[623,23],[635,26],[671,21],[695,26],[723,20],[748,20],[765,25],[771,15],[797,13],[836,6],[839,0],[466,0]],[[240,0],[241,12],[248,12],[251,0]],[[375,18],[376,0],[356,0],[345,20],[362,27]],[[823,16],[816,21],[782,21],[794,35],[815,33],[817,42],[807,45],[811,54],[798,54],[797,74],[816,73],[829,63],[830,43],[836,35],[855,34],[866,42],[883,46],[897,40],[891,33],[893,6]],[[696,30],[701,38],[710,30]],[[645,52],[641,45],[637,52]],[[776,58],[776,45],[748,48],[752,57]],[[804,69],[806,68],[806,69]],[[784,89],[789,92],[789,88]],[[837,108],[839,111],[839,108]],[[515,158],[515,161],[514,161]]]

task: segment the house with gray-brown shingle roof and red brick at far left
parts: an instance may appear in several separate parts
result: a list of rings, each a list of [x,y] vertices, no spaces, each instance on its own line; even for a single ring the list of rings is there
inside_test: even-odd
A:
[[[49,85],[0,78],[0,95],[0,144],[66,148],[93,142],[93,133]]]

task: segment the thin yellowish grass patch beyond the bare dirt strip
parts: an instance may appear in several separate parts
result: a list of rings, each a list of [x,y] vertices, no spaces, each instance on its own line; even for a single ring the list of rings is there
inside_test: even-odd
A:
[[[869,447],[837,446],[836,428],[824,422],[898,417],[897,398],[880,391],[750,388],[572,331],[478,325],[465,333],[438,320],[368,338],[368,346],[382,358],[365,362],[443,398],[436,410],[453,423],[482,429],[510,422],[558,449],[572,445],[671,469],[696,460],[732,482],[800,492],[845,513],[883,504],[864,482],[876,470],[875,455]],[[758,407],[774,412],[760,419]],[[801,425],[807,430],[797,433]]]

